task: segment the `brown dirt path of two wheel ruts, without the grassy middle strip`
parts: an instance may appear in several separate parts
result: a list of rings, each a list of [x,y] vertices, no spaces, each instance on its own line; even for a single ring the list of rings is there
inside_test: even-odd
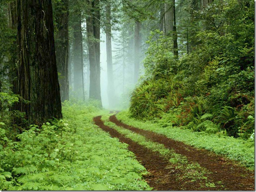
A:
[[[174,150],[176,154],[186,156],[189,163],[198,163],[208,170],[207,181],[215,184],[214,188],[212,188],[213,186],[210,184],[202,184],[202,180],[191,182],[191,178],[178,177],[179,174],[183,175],[182,171],[184,170],[180,170],[178,166],[173,166],[159,152],[149,150],[120,134],[114,128],[104,125],[101,116],[95,117],[94,122],[96,125],[109,132],[111,137],[119,138],[120,142],[125,142],[129,145],[128,150],[132,151],[138,161],[150,172],[150,175],[145,176],[145,180],[154,190],[254,190],[254,172],[236,165],[234,161],[207,150],[193,148],[161,134],[126,125],[116,119],[115,115],[112,115],[109,120],[118,127],[140,134],[150,141],[163,144],[165,148]]]

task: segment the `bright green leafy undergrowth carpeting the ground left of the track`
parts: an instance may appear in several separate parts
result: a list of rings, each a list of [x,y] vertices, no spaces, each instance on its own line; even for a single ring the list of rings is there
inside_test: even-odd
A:
[[[102,113],[95,104],[65,103],[63,120],[31,125],[16,142],[0,123],[0,189],[150,190],[127,145],[93,125]]]

